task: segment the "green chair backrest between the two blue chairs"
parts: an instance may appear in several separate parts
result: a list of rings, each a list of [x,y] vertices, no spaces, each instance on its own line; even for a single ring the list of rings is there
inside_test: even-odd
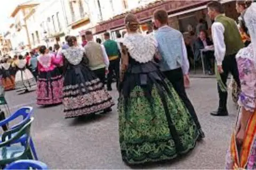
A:
[[[31,123],[33,121],[34,121],[34,117],[30,117],[29,121],[25,125],[18,126],[15,129],[5,131],[2,135],[2,142],[0,143],[0,148],[7,146],[7,145],[11,145],[11,143],[13,143],[13,141],[20,139],[20,137],[22,137],[22,135],[26,134],[27,138],[26,138],[25,148],[26,148],[26,150],[29,149],[30,127],[31,127]],[[11,134],[13,134],[13,135],[11,135]],[[6,137],[10,137],[10,138],[6,138]]]

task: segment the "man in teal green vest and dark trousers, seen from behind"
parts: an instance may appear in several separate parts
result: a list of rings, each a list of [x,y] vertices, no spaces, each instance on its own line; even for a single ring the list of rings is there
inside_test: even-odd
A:
[[[120,58],[118,57],[119,50],[118,50],[118,45],[116,41],[110,39],[109,32],[104,33],[104,39],[105,42],[103,43],[108,58],[109,58],[109,67],[108,67],[108,80],[107,80],[107,89],[108,91],[111,91],[111,83],[113,79],[113,73],[115,72],[116,74],[116,87],[118,88],[118,82],[119,82],[119,63],[120,63]]]

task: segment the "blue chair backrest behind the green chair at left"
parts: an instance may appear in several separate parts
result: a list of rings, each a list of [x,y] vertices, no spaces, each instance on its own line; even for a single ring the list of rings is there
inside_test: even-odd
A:
[[[9,117],[5,118],[5,120],[1,121],[0,125],[7,124],[13,121],[15,118],[22,116],[23,120],[18,124],[15,124],[14,126],[12,126],[11,129],[16,128],[17,126],[20,126],[21,124],[23,124],[24,123],[23,121],[27,121],[31,116],[31,114],[33,114],[33,107],[21,107],[16,112],[11,114]]]

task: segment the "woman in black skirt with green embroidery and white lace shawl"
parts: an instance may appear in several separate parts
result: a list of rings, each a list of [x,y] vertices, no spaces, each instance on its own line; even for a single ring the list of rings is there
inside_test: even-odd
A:
[[[195,147],[199,132],[172,84],[153,62],[156,40],[137,33],[135,15],[125,18],[118,100],[119,142],[127,164],[168,160]]]

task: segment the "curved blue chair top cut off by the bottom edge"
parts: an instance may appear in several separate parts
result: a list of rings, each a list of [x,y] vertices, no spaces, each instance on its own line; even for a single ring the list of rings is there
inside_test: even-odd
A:
[[[38,160],[17,160],[4,169],[48,169],[47,165]]]

